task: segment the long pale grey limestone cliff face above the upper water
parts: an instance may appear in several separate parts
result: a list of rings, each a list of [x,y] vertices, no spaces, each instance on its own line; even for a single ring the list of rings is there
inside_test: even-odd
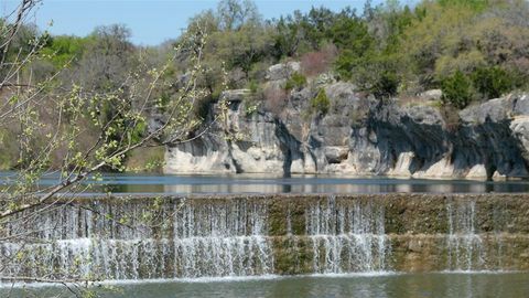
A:
[[[272,66],[269,77],[284,79],[279,74],[293,68]],[[320,88],[330,99],[326,114],[311,107]],[[210,129],[201,139],[169,147],[165,172],[528,175],[529,95],[471,106],[451,115],[457,123],[449,125],[428,100],[399,106],[361,97],[348,83],[320,88],[292,91],[281,113],[250,100],[249,91],[225,93],[225,119],[207,124]]]

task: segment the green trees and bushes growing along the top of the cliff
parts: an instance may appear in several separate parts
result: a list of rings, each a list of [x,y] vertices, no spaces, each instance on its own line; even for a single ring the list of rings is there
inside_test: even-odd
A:
[[[244,87],[262,81],[268,65],[289,60],[317,65],[310,68],[317,72],[304,70],[306,76],[332,72],[378,97],[443,88],[461,72],[472,94],[460,100],[465,104],[454,103],[458,107],[527,87],[529,4],[522,0],[424,0],[413,8],[396,0],[377,7],[367,1],[361,13],[322,7],[269,21],[248,1],[223,3],[190,24],[190,30],[201,24],[209,30],[212,89],[220,82],[218,61],[227,63],[230,87]],[[247,13],[237,26],[223,26],[226,3]],[[325,55],[328,49],[335,56]]]

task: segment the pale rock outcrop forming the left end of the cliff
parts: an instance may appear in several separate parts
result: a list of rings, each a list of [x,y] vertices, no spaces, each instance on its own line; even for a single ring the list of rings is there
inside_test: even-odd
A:
[[[271,113],[252,111],[245,97],[246,91],[230,91],[222,95],[228,103],[225,119],[209,119],[208,134],[192,142],[169,147],[166,172],[179,173],[241,173],[288,170],[290,135],[282,130],[280,120]],[[214,110],[215,109],[215,110]],[[212,107],[212,115],[219,114]],[[296,145],[291,145],[295,148]],[[285,168],[283,168],[285,167]]]

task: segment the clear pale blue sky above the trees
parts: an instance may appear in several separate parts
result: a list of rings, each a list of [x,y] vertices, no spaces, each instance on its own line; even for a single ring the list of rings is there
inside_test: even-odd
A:
[[[374,4],[384,0],[374,0]],[[19,1],[0,1],[2,15]],[[257,0],[259,12],[266,18],[278,18],[294,10],[309,11],[311,7],[324,6],[341,10],[347,6],[364,8],[365,0]],[[403,0],[403,3],[412,0]],[[187,20],[196,13],[215,9],[218,1],[210,0],[43,0],[32,15],[32,21],[41,29],[48,28],[53,34],[86,35],[97,25],[122,23],[132,31],[136,44],[155,45],[176,38]],[[53,25],[48,23],[53,21]]]

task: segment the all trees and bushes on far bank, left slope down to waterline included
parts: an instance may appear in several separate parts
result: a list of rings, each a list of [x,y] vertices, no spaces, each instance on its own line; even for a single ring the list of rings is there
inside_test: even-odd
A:
[[[282,97],[302,88],[307,79],[327,76],[350,82],[358,91],[379,98],[442,89],[443,105],[464,108],[528,87],[527,15],[529,4],[521,0],[423,0],[413,7],[388,0],[380,6],[367,1],[361,11],[320,7],[264,20],[251,1],[224,0],[216,9],[192,18],[184,34],[158,46],[132,44],[131,32],[119,24],[96,28],[87,36],[54,36],[21,23],[12,31],[9,46],[2,47],[2,60],[20,67],[12,70],[9,63],[2,67],[1,96],[9,106],[20,100],[21,92],[37,88],[46,104],[34,110],[39,120],[23,120],[39,123],[30,125],[37,132],[32,132],[31,143],[22,141],[21,119],[2,124],[0,167],[20,169],[34,159],[35,152],[28,150],[50,139],[61,110],[54,105],[63,103],[56,98],[71,97],[68,108],[82,111],[77,116],[85,134],[75,145],[83,150],[98,140],[100,125],[109,120],[114,125],[106,127],[108,143],[134,142],[147,136],[153,124],[164,121],[191,73],[196,75],[193,86],[202,95],[191,106],[177,103],[193,111],[192,118],[182,121],[188,128],[205,118],[226,88],[249,88],[263,96],[279,94],[263,89],[267,70],[289,61],[300,62],[301,70],[284,84]],[[11,32],[12,21],[4,19],[2,31]],[[198,39],[204,40],[199,53],[203,67],[196,72],[196,53],[180,51],[174,55],[173,49],[184,49]],[[31,58],[22,60],[25,56]],[[149,94],[153,100],[142,106],[140,98],[153,77],[156,88]],[[138,106],[143,115],[131,121],[127,113]],[[65,113],[62,121],[72,114]],[[46,167],[74,162],[61,150],[68,151],[57,148]],[[21,158],[21,151],[26,157]],[[148,160],[152,158],[141,161],[142,156],[134,156],[133,168],[152,163]],[[127,153],[122,159],[129,157]]]

